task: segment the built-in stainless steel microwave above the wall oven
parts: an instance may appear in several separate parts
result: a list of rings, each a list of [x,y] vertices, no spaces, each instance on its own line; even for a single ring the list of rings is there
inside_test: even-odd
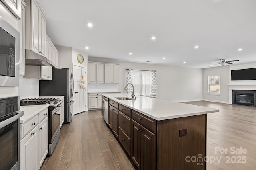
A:
[[[20,33],[0,16],[0,86],[19,86]]]

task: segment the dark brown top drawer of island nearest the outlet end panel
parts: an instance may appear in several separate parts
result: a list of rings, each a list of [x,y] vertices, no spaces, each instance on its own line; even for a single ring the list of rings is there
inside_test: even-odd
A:
[[[132,119],[150,131],[156,133],[156,120],[151,119],[150,117],[146,117],[145,115],[142,115],[141,113],[138,113],[134,110],[132,110]]]

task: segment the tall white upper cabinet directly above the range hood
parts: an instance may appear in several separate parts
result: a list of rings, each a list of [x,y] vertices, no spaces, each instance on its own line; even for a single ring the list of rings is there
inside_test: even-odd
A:
[[[26,49],[45,56],[46,15],[38,0],[25,0],[26,10]],[[30,28],[30,29],[28,29]]]

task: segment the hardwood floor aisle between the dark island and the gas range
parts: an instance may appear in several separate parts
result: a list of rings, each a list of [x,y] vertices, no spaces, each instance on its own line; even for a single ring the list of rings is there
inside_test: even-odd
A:
[[[101,110],[73,116],[62,125],[60,139],[40,170],[134,170],[104,122]]]

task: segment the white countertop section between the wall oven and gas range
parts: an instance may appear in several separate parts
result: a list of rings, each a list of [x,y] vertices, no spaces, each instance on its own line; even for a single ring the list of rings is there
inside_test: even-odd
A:
[[[34,117],[36,114],[38,114],[39,112],[43,111],[48,107],[48,104],[20,106],[20,111],[24,111],[24,115],[20,117],[20,123],[25,123],[30,118]]]

